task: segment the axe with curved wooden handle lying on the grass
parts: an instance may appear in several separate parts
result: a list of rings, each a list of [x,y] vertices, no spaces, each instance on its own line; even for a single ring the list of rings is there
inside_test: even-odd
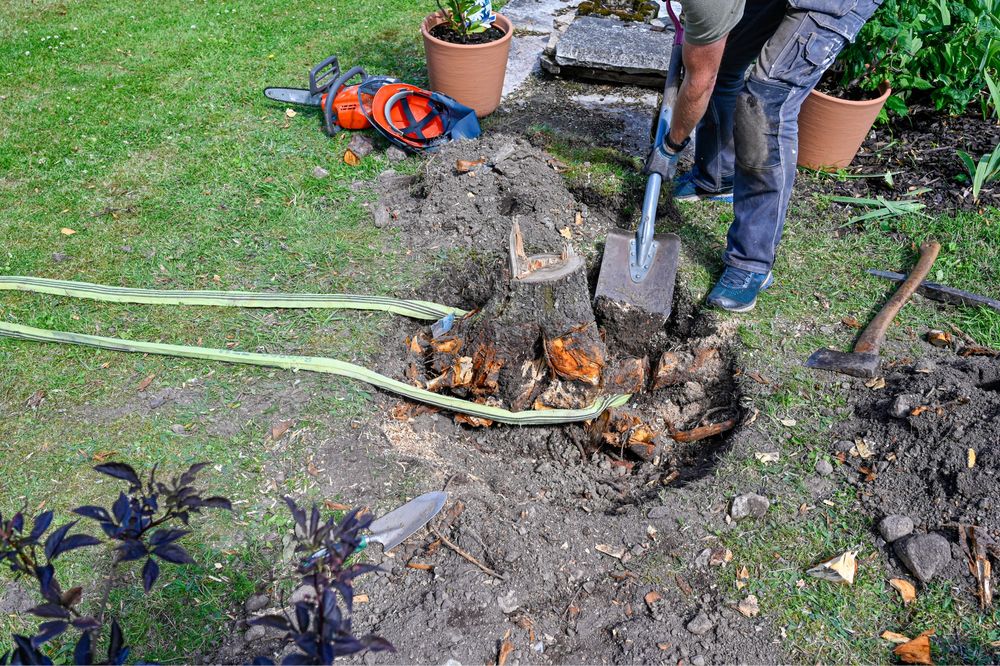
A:
[[[854,377],[874,377],[879,368],[879,348],[885,339],[885,332],[889,328],[889,324],[892,323],[902,307],[910,300],[913,292],[930,273],[931,266],[934,265],[940,251],[941,244],[936,241],[928,241],[920,246],[920,259],[917,261],[917,265],[899,285],[899,289],[892,295],[892,298],[886,301],[875,318],[862,331],[857,342],[854,343],[854,351],[817,349],[806,361],[806,367],[842,372]]]

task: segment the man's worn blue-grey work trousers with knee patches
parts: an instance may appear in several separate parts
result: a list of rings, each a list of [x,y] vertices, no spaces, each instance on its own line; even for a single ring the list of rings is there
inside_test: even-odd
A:
[[[695,185],[733,188],[727,265],[771,270],[795,181],[799,108],[881,1],[747,0],[695,142]]]

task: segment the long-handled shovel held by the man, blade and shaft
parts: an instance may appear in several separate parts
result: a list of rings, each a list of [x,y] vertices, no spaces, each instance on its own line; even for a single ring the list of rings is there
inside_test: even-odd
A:
[[[681,81],[681,43],[684,29],[667,3],[674,23],[674,44],[667,67],[667,82],[656,118],[653,148],[659,146],[670,130],[670,119]],[[655,234],[656,205],[660,199],[662,177],[651,173],[642,200],[642,217],[635,233],[612,229],[604,245],[601,272],[595,298],[606,297],[618,303],[640,308],[650,315],[670,317],[677,278],[677,258],[681,239],[676,234]]]

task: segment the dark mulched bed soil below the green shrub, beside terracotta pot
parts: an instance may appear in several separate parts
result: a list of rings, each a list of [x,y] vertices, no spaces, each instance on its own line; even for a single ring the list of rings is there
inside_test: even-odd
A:
[[[1000,207],[1000,184],[983,187],[979,201],[973,201],[971,184],[956,150],[964,150],[978,161],[979,156],[1000,143],[1000,126],[979,116],[946,116],[927,107],[912,108],[906,117],[893,117],[887,126],[876,125],[861,146],[847,171],[873,178],[825,179],[821,187],[840,196],[898,199],[914,189],[928,187],[919,196],[928,214]],[[878,177],[894,172],[892,184]],[[836,204],[841,205],[841,204]],[[852,209],[855,212],[858,209]]]

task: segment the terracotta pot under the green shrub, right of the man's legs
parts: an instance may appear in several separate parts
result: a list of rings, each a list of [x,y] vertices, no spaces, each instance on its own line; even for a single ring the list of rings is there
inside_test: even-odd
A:
[[[853,102],[813,90],[799,111],[799,166],[848,166],[868,136],[892,89],[883,83],[875,99]]]

